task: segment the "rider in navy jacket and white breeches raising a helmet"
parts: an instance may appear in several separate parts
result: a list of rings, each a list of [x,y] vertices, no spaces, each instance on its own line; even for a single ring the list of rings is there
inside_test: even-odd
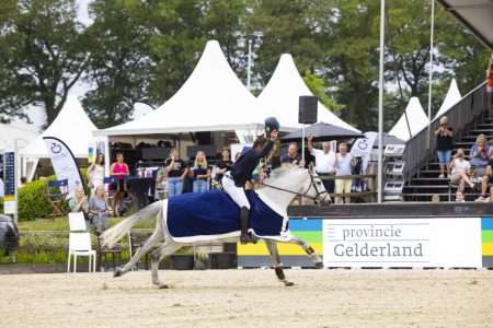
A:
[[[276,118],[265,119],[265,137],[261,136],[253,142],[252,149],[243,153],[233,164],[231,173],[225,175],[222,187],[225,191],[240,207],[240,242],[241,244],[254,243],[253,235],[248,233],[250,202],[244,192],[246,183],[252,179],[252,173],[262,157],[265,157],[273,149],[274,141],[277,139],[279,122]],[[267,138],[268,139],[267,139]]]

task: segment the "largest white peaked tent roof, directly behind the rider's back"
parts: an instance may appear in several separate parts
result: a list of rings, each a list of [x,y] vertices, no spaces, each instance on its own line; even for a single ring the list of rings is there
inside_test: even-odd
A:
[[[154,112],[96,134],[125,136],[256,129],[264,125],[255,97],[229,66],[217,40],[209,40],[192,74]]]

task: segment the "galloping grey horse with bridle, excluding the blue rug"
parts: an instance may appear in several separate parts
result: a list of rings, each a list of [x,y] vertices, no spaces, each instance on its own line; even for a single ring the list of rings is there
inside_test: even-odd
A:
[[[287,207],[296,196],[301,195],[311,198],[314,201],[321,202],[330,201],[330,198],[323,187],[321,179],[310,173],[310,171],[294,165],[284,166],[273,171],[271,177],[265,181],[263,187],[256,190],[256,192],[263,200],[263,202],[277,213],[282,214],[282,216],[285,218],[286,222]],[[116,242],[127,235],[131,226],[134,226],[136,223],[154,215],[157,215],[157,220],[156,229],[152,235],[138,249],[130,261],[128,261],[124,267],[117,268],[115,270],[114,277],[119,277],[130,271],[131,268],[138,262],[140,257],[147,254],[154,246],[160,245],[151,254],[151,274],[152,283],[159,288],[164,289],[168,288],[168,285],[162,283],[158,277],[159,262],[164,257],[172,255],[184,246],[203,245],[213,241],[221,241],[225,243],[237,243],[239,241],[239,231],[231,232],[221,237],[200,236],[199,241],[194,241],[193,243],[174,239],[173,236],[171,236],[167,225],[168,200],[161,200],[149,204],[139,212],[128,216],[115,226],[105,231],[100,237],[101,244],[103,246],[112,247]],[[287,286],[293,285],[294,283],[288,281],[284,274],[276,243],[282,242],[299,245],[314,261],[316,268],[322,268],[323,266],[321,257],[317,255],[314,249],[302,239],[291,235],[289,231],[285,231],[283,233],[283,236],[279,238],[262,236],[259,237],[260,239],[264,239],[268,248],[274,270],[278,280]]]

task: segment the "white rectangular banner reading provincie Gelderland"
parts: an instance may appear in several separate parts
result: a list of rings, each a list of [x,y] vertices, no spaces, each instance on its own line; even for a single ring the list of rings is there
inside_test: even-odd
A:
[[[481,268],[481,219],[324,220],[325,267]]]

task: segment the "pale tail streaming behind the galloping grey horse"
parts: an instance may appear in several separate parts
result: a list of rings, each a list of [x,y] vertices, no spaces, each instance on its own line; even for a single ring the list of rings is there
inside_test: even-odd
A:
[[[111,229],[106,230],[101,236],[101,245],[113,247],[116,242],[122,239],[130,229],[136,225],[138,222],[144,221],[146,219],[156,216],[159,213],[159,210],[162,209],[162,201],[154,201],[153,203],[145,207],[137,213],[128,216],[127,219],[123,220],[115,226],[112,226]]]

